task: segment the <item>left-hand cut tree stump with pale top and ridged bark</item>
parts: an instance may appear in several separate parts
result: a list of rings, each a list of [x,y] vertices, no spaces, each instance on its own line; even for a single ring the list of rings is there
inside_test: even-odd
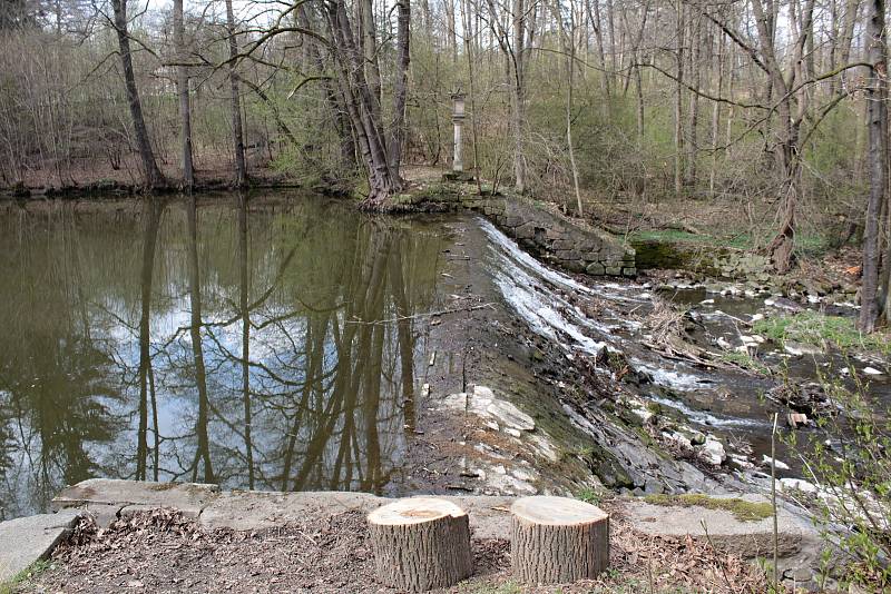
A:
[[[473,571],[470,521],[451,502],[409,497],[379,507],[368,521],[378,576],[390,587],[448,587]]]

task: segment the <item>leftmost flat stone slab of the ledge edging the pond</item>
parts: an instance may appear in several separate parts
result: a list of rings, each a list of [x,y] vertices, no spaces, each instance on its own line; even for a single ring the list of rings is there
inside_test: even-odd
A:
[[[219,496],[219,486],[202,483],[151,483],[90,478],[65,488],[52,499],[53,509],[88,505],[174,507],[196,516]]]

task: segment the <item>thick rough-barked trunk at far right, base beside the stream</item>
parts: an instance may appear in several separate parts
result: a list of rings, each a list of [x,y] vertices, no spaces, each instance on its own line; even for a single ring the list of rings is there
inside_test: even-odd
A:
[[[887,160],[884,136],[888,126],[885,106],[888,90],[888,58],[884,32],[884,0],[870,0],[870,18],[866,23],[869,42],[870,81],[866,88],[869,106],[869,164],[870,197],[866,202],[866,220],[863,232],[863,284],[860,293],[860,329],[875,329],[881,304],[879,303],[879,217],[885,195]],[[885,263],[888,266],[889,263]]]

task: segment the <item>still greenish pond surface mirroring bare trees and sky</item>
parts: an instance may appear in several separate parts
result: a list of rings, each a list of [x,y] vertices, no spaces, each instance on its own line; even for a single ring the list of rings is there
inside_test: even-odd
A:
[[[314,198],[219,201],[2,216],[8,516],[90,476],[399,482],[443,232]]]

